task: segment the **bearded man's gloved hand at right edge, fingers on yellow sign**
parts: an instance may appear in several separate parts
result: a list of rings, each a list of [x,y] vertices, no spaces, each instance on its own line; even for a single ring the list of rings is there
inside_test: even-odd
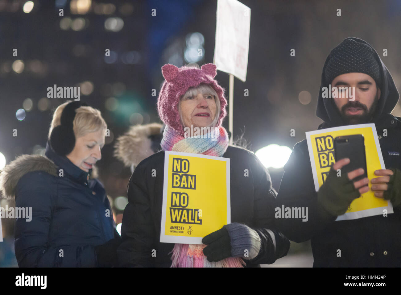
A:
[[[401,171],[399,169],[379,169],[376,177],[371,180],[375,196],[390,200],[394,207],[401,205]]]

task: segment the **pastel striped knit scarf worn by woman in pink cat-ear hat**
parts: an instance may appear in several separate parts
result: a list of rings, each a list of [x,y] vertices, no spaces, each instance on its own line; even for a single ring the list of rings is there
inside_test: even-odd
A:
[[[203,154],[222,157],[227,150],[229,138],[223,126],[219,127],[217,136],[200,136],[184,138],[173,128],[166,125],[161,142],[164,151]],[[201,138],[203,137],[203,138]],[[171,267],[243,267],[242,258],[228,257],[219,262],[209,262],[203,254],[207,245],[175,244],[172,250]],[[169,253],[169,254],[170,254]]]

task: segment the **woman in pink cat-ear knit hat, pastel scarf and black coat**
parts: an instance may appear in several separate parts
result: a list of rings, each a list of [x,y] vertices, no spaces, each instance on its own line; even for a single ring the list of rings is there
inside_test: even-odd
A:
[[[276,192],[269,172],[254,153],[229,146],[221,125],[227,100],[214,79],[216,66],[201,69],[164,65],[166,80],[158,113],[166,127],[162,151],[146,158],[129,183],[129,203],[122,221],[121,266],[131,267],[257,267],[285,256],[289,240],[274,225]],[[193,130],[213,132],[193,136]],[[196,132],[196,131],[195,131]],[[198,134],[197,134],[198,135]],[[230,159],[231,222],[202,240],[203,245],[160,243],[164,151],[198,153]],[[249,174],[244,173],[245,169]],[[156,176],[152,176],[156,171]],[[154,173],[153,173],[154,174]],[[245,176],[246,175],[246,176]]]

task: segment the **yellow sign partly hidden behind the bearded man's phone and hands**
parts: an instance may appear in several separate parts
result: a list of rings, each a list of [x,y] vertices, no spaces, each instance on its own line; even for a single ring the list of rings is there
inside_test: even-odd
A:
[[[306,141],[308,142],[316,191],[324,183],[330,167],[335,163],[334,138],[354,134],[362,134],[365,139],[366,165],[369,180],[377,177],[375,170],[385,169],[375,124],[348,125],[306,132]],[[346,213],[338,216],[336,220],[379,215],[383,214],[384,209],[387,210],[387,213],[393,213],[393,207],[389,201],[375,197],[374,192],[369,190],[358,199],[354,199]]]

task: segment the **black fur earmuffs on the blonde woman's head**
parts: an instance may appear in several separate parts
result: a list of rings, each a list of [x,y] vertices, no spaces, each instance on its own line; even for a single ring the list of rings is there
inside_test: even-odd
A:
[[[50,145],[53,151],[61,156],[71,153],[75,146],[73,122],[75,110],[81,106],[87,106],[85,102],[70,102],[61,113],[60,125],[53,128],[50,134]]]

